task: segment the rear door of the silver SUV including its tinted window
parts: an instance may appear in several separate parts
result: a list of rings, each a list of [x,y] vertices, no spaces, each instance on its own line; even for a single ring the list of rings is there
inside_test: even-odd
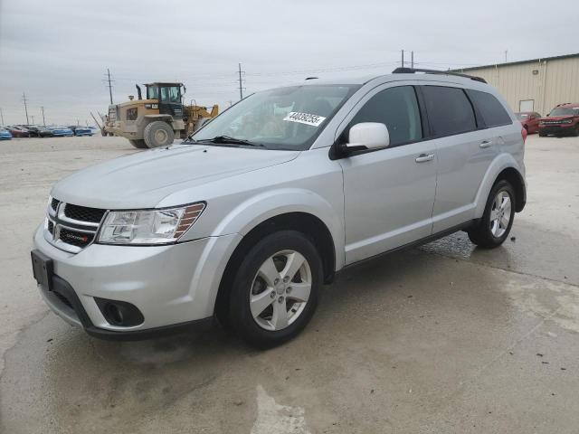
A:
[[[436,82],[421,86],[438,156],[432,232],[454,228],[474,218],[475,197],[500,137],[486,129],[467,92]],[[478,110],[477,110],[478,112]]]

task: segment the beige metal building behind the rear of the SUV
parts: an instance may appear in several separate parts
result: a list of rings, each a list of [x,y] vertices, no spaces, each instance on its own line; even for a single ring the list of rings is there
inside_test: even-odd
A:
[[[579,102],[579,53],[459,71],[487,80],[515,111],[546,115],[557,104]]]

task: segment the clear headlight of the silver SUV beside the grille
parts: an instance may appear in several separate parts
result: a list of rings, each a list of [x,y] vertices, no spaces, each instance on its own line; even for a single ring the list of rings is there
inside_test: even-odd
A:
[[[99,231],[102,244],[170,244],[204,212],[205,203],[143,211],[109,211]]]

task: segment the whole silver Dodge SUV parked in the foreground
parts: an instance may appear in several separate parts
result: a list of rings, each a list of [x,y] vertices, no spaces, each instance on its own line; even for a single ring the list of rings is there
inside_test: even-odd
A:
[[[525,131],[484,80],[416,71],[261,91],[63,179],[33,237],[44,300],[90,335],[216,317],[269,346],[346,266],[453,231],[499,246],[526,203]]]

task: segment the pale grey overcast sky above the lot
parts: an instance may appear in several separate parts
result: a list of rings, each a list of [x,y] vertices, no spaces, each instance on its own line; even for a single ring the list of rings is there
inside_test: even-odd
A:
[[[5,124],[83,124],[135,83],[185,82],[185,99],[223,107],[244,92],[303,80],[388,73],[400,50],[447,69],[579,52],[579,0],[0,0]],[[30,119],[32,122],[32,118]],[[92,122],[91,122],[92,123]]]

